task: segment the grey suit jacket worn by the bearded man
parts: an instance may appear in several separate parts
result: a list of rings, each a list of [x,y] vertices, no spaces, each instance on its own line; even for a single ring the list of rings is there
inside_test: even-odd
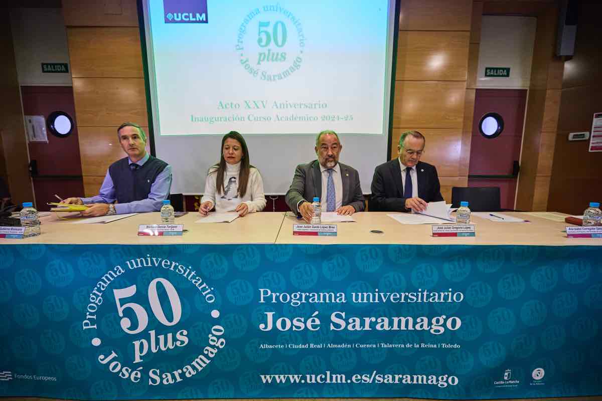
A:
[[[343,163],[339,163],[339,166],[341,167],[341,180],[343,181],[343,206],[350,204],[356,212],[362,212],[365,205],[362,188],[359,185],[358,171]],[[311,202],[314,197],[320,198],[320,201],[322,200],[322,174],[320,172],[320,162],[317,160],[297,166],[285,200],[288,207],[294,213],[297,213],[299,201]]]

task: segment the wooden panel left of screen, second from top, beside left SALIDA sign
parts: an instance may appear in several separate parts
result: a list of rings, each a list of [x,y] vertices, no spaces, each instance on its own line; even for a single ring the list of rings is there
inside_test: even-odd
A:
[[[67,28],[73,78],[144,78],[138,28]]]

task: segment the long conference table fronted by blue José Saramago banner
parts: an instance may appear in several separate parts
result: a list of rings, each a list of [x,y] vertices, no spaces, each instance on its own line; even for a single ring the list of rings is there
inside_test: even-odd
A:
[[[292,213],[138,236],[43,218],[0,239],[0,396],[56,399],[602,394],[602,239],[473,216],[433,237],[383,212],[299,236]]]

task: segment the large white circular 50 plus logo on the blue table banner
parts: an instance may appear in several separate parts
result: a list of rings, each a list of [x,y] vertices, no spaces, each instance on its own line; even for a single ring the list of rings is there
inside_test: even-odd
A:
[[[129,283],[130,271],[141,274],[137,284],[127,286],[123,283]],[[178,286],[179,291],[200,295],[211,310],[214,289],[196,270],[150,255],[114,266],[88,296],[79,338],[98,347],[95,363],[123,379],[124,388],[134,391],[137,384],[147,388],[184,381],[202,372],[226,345],[226,329],[215,320],[187,322],[181,293],[170,279],[176,284],[185,280],[190,287]],[[214,308],[209,316],[218,319],[220,311]],[[196,348],[194,357],[180,356],[190,356],[189,349],[180,352],[189,347]]]

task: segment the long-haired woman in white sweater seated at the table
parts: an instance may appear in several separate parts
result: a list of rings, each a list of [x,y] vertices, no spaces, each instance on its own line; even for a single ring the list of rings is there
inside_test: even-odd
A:
[[[265,207],[261,174],[250,165],[247,143],[236,131],[224,135],[222,158],[207,173],[199,213],[205,216],[213,207],[216,212],[235,211],[241,217]]]

